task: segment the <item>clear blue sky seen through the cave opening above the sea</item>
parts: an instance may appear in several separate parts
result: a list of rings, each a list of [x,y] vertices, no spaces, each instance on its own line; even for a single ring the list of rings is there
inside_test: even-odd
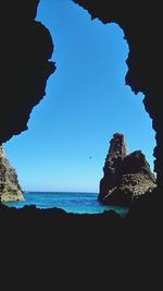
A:
[[[154,132],[143,96],[125,85],[123,31],[91,21],[71,0],[40,0],[37,20],[51,32],[57,71],[28,131],[3,146],[23,190],[98,192],[115,132],[125,135],[129,151],[141,149],[153,169]]]

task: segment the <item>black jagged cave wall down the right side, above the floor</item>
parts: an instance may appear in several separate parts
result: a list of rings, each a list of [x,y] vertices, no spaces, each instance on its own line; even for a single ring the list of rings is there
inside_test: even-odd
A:
[[[91,19],[103,24],[115,22],[124,31],[129,46],[126,84],[145,94],[143,105],[155,131],[154,170],[163,187],[162,133],[162,9],[160,1],[73,0],[88,10]],[[161,70],[160,70],[161,69]],[[146,138],[146,137],[143,137]]]

